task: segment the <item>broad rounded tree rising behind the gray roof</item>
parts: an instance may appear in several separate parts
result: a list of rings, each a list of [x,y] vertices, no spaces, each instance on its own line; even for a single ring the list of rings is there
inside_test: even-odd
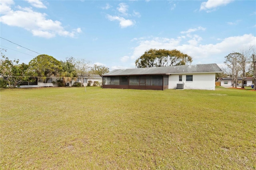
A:
[[[186,65],[191,62],[192,57],[177,49],[150,49],[136,59],[135,64],[136,67],[143,68]]]

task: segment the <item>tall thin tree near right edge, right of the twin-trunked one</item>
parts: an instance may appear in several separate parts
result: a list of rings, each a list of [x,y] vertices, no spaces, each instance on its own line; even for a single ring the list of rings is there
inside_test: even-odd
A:
[[[251,57],[252,54],[252,50],[253,50],[253,46],[249,46],[248,48],[242,48],[241,49],[241,54],[238,57],[238,63],[240,64],[240,67],[242,69],[242,86],[241,88],[244,89],[244,84],[245,84],[245,77],[246,77],[246,66],[249,63],[249,59]]]

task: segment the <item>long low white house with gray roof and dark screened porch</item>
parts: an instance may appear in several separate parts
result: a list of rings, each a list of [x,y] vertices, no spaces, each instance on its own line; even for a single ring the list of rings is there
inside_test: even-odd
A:
[[[102,75],[102,87],[114,89],[215,89],[217,64],[116,69]]]

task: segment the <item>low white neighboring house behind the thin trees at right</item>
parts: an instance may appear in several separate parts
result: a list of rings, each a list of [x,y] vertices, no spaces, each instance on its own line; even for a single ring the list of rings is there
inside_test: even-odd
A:
[[[244,85],[245,86],[250,86],[252,85],[252,80],[253,77],[245,77],[244,78]],[[216,82],[220,82],[221,86],[232,86],[233,85],[233,81],[231,77],[218,77],[218,79],[216,80]],[[242,77],[238,77],[237,78],[237,86],[242,86]]]

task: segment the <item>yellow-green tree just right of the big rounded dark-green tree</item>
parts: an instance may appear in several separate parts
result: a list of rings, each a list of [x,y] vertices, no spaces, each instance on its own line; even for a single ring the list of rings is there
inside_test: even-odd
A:
[[[71,81],[72,77],[76,77],[76,67],[73,57],[66,58],[66,61],[60,61],[62,65],[62,70],[60,77],[62,77],[64,83]]]

